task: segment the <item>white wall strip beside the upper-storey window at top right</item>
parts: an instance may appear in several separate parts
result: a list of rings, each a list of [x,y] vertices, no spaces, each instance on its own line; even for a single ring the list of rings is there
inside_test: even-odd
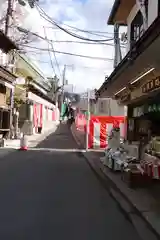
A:
[[[148,27],[158,16],[158,0],[148,0]]]

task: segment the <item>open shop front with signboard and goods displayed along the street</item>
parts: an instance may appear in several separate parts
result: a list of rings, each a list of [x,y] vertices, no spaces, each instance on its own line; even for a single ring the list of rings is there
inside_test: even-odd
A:
[[[155,186],[160,180],[160,76],[147,75],[134,88],[127,87],[117,96],[127,106],[127,138],[113,129],[104,165],[121,171],[129,186]],[[115,132],[114,132],[115,131]],[[116,145],[115,145],[116,143]]]

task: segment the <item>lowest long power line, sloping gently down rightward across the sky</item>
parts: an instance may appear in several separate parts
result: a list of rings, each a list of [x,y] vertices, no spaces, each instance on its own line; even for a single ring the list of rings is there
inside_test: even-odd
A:
[[[41,50],[41,51],[48,51],[48,49],[46,49],[46,48],[37,48],[37,47],[27,46],[27,45],[23,45],[23,44],[21,44],[21,46],[24,46],[24,47],[27,47],[27,48],[31,48],[31,49],[37,49],[37,50]],[[50,49],[50,51],[53,51],[53,50]],[[57,50],[54,51],[54,52],[55,52],[55,53],[59,53],[59,54],[65,54],[65,55],[82,57],[82,58],[90,58],[90,59],[95,59],[95,60],[113,61],[112,58],[92,57],[92,56],[75,54],[75,53],[70,53],[70,52],[61,52],[61,51],[57,51]]]

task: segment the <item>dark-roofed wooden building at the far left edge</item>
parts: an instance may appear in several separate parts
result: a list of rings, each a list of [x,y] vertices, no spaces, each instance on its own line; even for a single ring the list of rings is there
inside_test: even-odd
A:
[[[17,46],[0,31],[0,49],[9,54]],[[14,89],[16,76],[3,65],[0,65],[0,134],[6,135],[10,131],[11,101],[10,92]]]

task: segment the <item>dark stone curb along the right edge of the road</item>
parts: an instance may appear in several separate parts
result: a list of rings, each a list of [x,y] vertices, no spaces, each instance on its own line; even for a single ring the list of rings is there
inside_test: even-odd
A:
[[[71,126],[71,133],[79,147],[83,144],[79,141],[76,133]],[[84,146],[83,146],[84,147]],[[149,223],[138,208],[128,199],[128,197],[117,187],[117,185],[103,172],[103,169],[95,165],[93,161],[87,156],[86,153],[82,153],[86,159],[88,165],[95,173],[97,178],[101,181],[103,186],[109,191],[110,195],[117,202],[120,209],[123,211],[127,219],[133,224],[140,237],[144,240],[160,240],[160,235],[156,229]],[[109,184],[106,182],[109,182]],[[138,223],[138,224],[137,224]]]

